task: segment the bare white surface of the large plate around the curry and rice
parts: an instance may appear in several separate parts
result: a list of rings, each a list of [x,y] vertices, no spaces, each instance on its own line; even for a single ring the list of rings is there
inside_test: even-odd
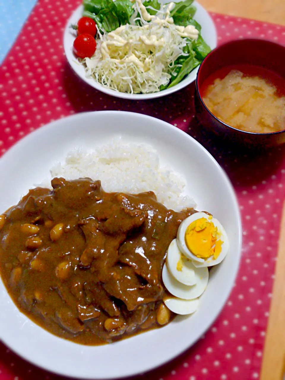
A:
[[[55,138],[56,136],[56,138]],[[228,234],[230,251],[209,272],[199,309],[177,316],[163,328],[101,346],[84,346],[59,338],[22,314],[0,279],[0,340],[37,366],[82,379],[111,379],[145,372],[173,359],[212,325],[234,285],[241,256],[241,218],[237,199],[223,169],[195,139],[162,120],[122,111],[79,113],[52,122],[23,138],[0,159],[0,213],[17,204],[28,189],[51,176],[76,147],[95,149],[112,137],[129,144],[150,144],[161,165],[186,180],[185,194],[199,211],[211,212]],[[35,159],[36,158],[36,159]]]

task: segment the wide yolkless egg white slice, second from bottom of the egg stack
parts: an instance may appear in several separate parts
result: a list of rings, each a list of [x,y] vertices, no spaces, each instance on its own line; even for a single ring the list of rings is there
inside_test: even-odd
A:
[[[184,285],[173,277],[173,275],[168,271],[166,264],[164,264],[162,269],[162,280],[166,289],[173,296],[182,299],[197,298],[205,291],[209,280],[208,268],[196,268],[195,276],[195,285]]]

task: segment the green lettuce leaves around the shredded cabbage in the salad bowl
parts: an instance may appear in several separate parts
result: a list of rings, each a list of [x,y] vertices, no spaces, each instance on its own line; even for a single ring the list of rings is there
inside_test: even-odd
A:
[[[174,70],[171,79],[166,86],[161,86],[160,90],[175,86],[177,83],[197,67],[207,54],[211,51],[201,36],[201,25],[193,17],[196,13],[194,0],[185,0],[175,3],[171,10],[170,17],[173,17],[174,24],[187,27],[193,25],[198,31],[197,40],[187,38],[187,45],[183,48],[183,55],[180,55],[174,62]],[[151,15],[155,15],[160,9],[161,3],[158,0],[146,0],[144,6]],[[133,3],[130,0],[83,0],[83,16],[91,17],[95,20],[101,33],[111,32],[120,25],[130,23],[133,16]]]

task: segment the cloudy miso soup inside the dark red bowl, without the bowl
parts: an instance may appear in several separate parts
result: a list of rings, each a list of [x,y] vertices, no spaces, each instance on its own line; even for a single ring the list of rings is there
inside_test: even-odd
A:
[[[257,133],[285,129],[285,96],[261,76],[231,70],[207,86],[203,101],[231,127]]]

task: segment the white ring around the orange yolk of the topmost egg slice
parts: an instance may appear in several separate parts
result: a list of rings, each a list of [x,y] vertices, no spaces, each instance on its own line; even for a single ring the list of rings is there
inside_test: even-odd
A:
[[[187,227],[192,222],[200,218],[206,218],[210,223],[212,222],[214,226],[217,227],[218,233],[220,234],[220,239],[223,241],[222,250],[220,252],[220,255],[218,255],[216,259],[214,259],[214,256],[210,256],[209,258],[204,260],[203,258],[199,258],[193,255],[193,253],[188,249],[185,243],[185,232],[187,230]],[[177,245],[180,251],[192,260],[192,263],[196,268],[204,268],[206,266],[213,266],[219,264],[225,258],[230,246],[228,236],[221,223],[216,218],[213,218],[211,215],[208,215],[205,212],[195,212],[195,214],[192,214],[183,220],[177,232]]]

